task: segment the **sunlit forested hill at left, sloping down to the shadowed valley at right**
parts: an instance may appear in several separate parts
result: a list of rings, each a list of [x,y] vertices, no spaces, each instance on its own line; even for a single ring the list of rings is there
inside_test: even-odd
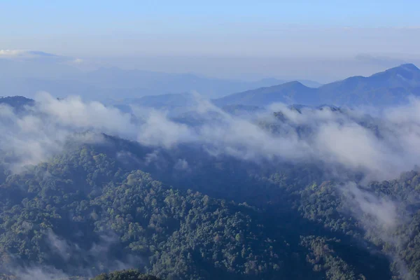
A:
[[[162,279],[317,279],[311,269],[289,268],[307,267],[304,255],[293,257],[297,241],[290,248],[255,207],[155,181],[137,169],[148,165],[147,148],[104,140],[1,181],[0,223],[10,228],[0,232],[1,269],[31,263],[84,276],[125,265]],[[225,172],[223,165],[207,168]],[[216,187],[197,175],[203,190]]]

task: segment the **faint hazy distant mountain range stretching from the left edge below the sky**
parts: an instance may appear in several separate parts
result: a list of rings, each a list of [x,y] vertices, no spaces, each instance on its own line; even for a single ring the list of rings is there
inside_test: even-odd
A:
[[[164,73],[118,67],[81,71],[74,66],[74,59],[68,57],[38,52],[29,55],[25,59],[0,58],[0,94],[34,97],[36,92],[46,91],[55,97],[80,95],[83,99],[112,104],[121,99],[180,92],[198,92],[205,97],[217,98],[231,92],[286,83],[286,80],[276,78],[229,80],[193,73]],[[302,80],[302,83],[319,85],[310,80]]]

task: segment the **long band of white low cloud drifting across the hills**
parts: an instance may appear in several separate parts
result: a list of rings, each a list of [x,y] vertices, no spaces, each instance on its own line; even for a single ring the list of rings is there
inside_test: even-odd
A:
[[[320,162],[330,169],[361,172],[367,179],[392,179],[420,158],[420,100],[383,111],[303,108],[276,104],[252,117],[231,116],[197,98],[197,124],[179,123],[155,109],[123,113],[80,97],[55,99],[41,93],[27,113],[0,106],[0,144],[35,164],[61,151],[74,132],[91,130],[170,150],[202,146],[212,156],[249,161]],[[276,116],[272,111],[279,112]],[[140,112],[140,113],[139,113]],[[196,120],[195,120],[196,121]]]

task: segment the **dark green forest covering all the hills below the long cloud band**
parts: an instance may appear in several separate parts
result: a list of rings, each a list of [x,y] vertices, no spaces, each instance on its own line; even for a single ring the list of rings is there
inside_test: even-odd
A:
[[[176,153],[194,157],[195,168],[176,176],[174,154],[145,166],[136,159],[150,148],[103,137],[19,174],[3,169],[4,279],[28,265],[80,279],[420,277],[419,172],[363,187],[407,202],[398,211],[409,223],[387,240],[374,216],[363,216],[369,228],[345,210],[342,182],[325,181],[319,166],[244,164],[183,147]],[[102,274],[121,268],[139,272]]]

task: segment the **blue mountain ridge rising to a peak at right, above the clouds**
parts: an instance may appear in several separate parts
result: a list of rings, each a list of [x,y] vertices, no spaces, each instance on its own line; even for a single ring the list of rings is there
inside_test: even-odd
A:
[[[267,106],[274,102],[317,106],[375,105],[388,106],[407,102],[410,95],[420,95],[420,69],[402,64],[369,77],[354,76],[311,88],[292,82],[261,87],[215,99],[218,106],[230,104]]]

